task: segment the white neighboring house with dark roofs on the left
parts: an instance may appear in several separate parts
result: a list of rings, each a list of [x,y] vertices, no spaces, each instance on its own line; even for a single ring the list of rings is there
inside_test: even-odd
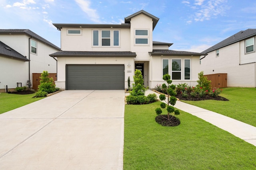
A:
[[[56,73],[57,61],[49,57],[56,51],[60,48],[29,29],[0,29],[0,90],[28,87],[32,73]]]

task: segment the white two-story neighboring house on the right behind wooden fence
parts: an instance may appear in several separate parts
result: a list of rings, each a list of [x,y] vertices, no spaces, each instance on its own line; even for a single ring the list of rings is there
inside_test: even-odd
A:
[[[256,87],[256,29],[239,31],[202,53],[204,74],[227,73],[229,87]]]

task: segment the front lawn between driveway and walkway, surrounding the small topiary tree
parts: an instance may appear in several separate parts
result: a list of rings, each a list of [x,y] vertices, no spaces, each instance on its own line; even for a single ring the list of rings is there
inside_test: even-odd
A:
[[[159,106],[125,106],[125,170],[256,169],[255,146],[184,111],[179,126],[163,127]]]

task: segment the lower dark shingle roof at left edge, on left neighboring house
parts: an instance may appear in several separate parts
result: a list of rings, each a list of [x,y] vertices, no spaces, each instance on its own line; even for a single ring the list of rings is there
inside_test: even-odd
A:
[[[25,56],[21,55],[8,45],[4,44],[0,41],[0,56],[8,57],[11,59],[21,60],[21,61],[29,61]]]

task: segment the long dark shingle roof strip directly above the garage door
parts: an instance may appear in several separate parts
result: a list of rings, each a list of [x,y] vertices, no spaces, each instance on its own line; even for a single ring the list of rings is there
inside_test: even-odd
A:
[[[136,57],[136,53],[130,51],[58,51],[50,54],[51,57]]]

